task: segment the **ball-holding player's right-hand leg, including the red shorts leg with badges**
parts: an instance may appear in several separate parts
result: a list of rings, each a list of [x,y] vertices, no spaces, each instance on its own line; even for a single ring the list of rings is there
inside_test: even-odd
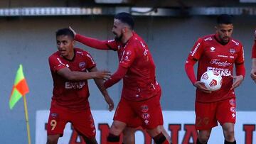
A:
[[[225,101],[218,102],[217,118],[223,128],[223,134],[225,138],[224,143],[236,143],[235,142],[235,99],[227,99]]]

